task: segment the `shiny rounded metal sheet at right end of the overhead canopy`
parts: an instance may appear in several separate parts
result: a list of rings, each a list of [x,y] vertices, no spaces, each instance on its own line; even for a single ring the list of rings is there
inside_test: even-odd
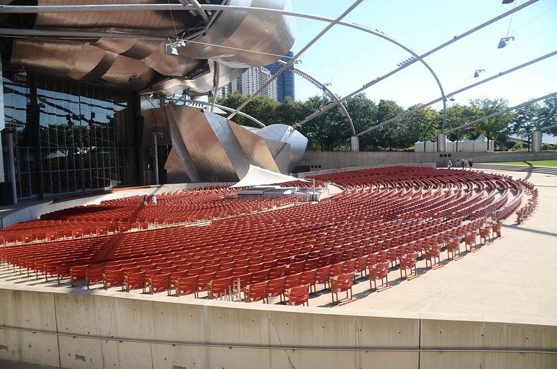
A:
[[[229,5],[281,10],[292,8],[290,0],[230,0]],[[205,45],[188,43],[180,48],[179,52],[180,55],[189,58],[212,58],[233,68],[267,65],[277,61],[294,45],[294,31],[292,17],[239,10],[226,11],[205,36],[194,38],[196,42],[203,42]]]

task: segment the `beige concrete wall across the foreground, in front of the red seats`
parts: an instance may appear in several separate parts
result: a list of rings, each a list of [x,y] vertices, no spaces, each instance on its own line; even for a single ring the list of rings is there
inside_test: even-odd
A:
[[[557,367],[557,325],[541,321],[382,316],[86,290],[4,288],[0,295],[0,359],[62,368]]]

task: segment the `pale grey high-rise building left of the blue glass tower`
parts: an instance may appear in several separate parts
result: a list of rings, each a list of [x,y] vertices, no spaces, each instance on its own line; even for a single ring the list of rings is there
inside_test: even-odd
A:
[[[235,93],[236,91],[242,95],[254,95],[264,84],[271,79],[271,72],[265,67],[252,67],[246,70],[235,81],[222,86],[217,91],[217,97],[222,97]],[[260,95],[270,97],[277,100],[276,80],[265,87]]]

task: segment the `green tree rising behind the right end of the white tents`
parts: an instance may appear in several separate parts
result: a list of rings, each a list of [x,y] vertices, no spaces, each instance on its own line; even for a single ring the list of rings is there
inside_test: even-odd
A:
[[[508,102],[504,99],[476,99],[471,100],[470,103],[472,107],[480,109],[482,116],[489,116],[508,107]],[[489,141],[503,144],[508,137],[511,120],[512,113],[504,113],[485,119],[476,124],[476,134],[483,134],[485,136],[487,147],[489,147]]]

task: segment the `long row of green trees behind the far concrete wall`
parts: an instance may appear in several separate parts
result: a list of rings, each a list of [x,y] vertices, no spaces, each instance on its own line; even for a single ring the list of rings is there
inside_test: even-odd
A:
[[[217,103],[236,109],[246,99],[247,97],[240,93],[233,93],[219,98]],[[288,98],[282,104],[268,97],[258,96],[249,102],[242,111],[265,125],[273,123],[295,125],[330,103],[331,99],[324,95],[315,95],[304,102]],[[414,105],[406,109],[393,100],[375,102],[370,100],[365,93],[350,97],[343,104],[352,118],[356,134],[418,107],[418,105]],[[450,141],[462,141],[463,139],[474,139],[483,134],[488,143],[494,141],[503,147],[509,134],[516,134],[526,139],[533,130],[542,128],[544,121],[543,127],[557,124],[557,113],[554,111],[556,106],[557,97],[550,97],[541,104],[528,104],[515,111],[485,119],[472,127],[457,129],[450,132],[447,138]],[[503,99],[474,99],[466,105],[453,104],[446,111],[445,130],[460,127],[464,123],[507,108],[508,102]],[[233,121],[241,125],[257,127],[248,118],[238,115],[234,116]],[[359,136],[360,150],[408,150],[418,141],[435,141],[437,134],[441,132],[441,125],[442,111],[431,107],[418,109],[414,113]],[[350,150],[352,127],[339,109],[325,111],[298,129],[308,138],[308,150]],[[557,134],[557,127],[547,133]]]

